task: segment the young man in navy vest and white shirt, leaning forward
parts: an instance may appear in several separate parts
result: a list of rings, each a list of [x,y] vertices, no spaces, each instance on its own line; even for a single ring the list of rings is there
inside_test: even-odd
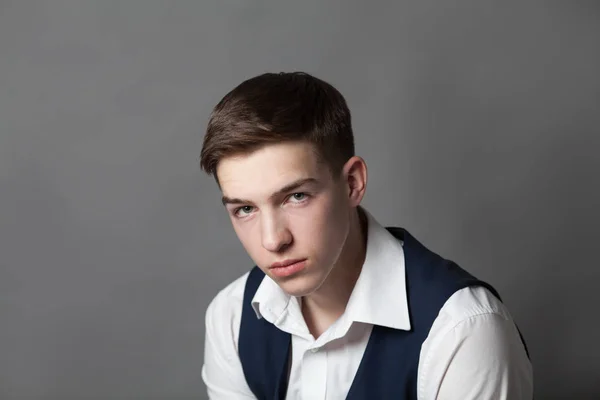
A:
[[[305,73],[215,107],[201,153],[256,263],[206,313],[211,399],[531,399],[497,292],[360,206],[350,111]]]

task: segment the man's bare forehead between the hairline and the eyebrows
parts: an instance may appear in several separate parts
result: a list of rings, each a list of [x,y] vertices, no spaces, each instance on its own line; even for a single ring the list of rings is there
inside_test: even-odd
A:
[[[326,173],[313,145],[305,142],[267,145],[248,154],[226,157],[217,167],[223,195],[247,199],[269,196],[299,179],[322,180]]]

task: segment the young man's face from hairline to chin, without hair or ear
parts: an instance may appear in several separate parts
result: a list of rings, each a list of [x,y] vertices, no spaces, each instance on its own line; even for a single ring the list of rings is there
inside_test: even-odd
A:
[[[334,179],[311,144],[287,142],[224,158],[217,176],[233,228],[256,265],[290,295],[317,290],[348,236],[352,207],[343,174]]]

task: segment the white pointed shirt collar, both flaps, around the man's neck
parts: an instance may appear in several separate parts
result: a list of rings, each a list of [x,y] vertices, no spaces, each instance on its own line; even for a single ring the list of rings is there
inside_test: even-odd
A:
[[[402,242],[389,233],[364,208],[368,221],[367,251],[356,285],[350,295],[344,318],[352,322],[409,330],[404,250]],[[258,318],[277,325],[293,314],[302,318],[298,299],[285,293],[265,276],[252,299]],[[290,315],[292,317],[292,315]]]

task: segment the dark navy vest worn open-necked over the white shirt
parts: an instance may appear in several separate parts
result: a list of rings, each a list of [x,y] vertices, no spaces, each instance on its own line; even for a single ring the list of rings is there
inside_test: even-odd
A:
[[[404,241],[411,329],[373,326],[348,400],[416,400],[421,345],[446,300],[468,286],[483,286],[500,299],[492,286],[426,249],[408,231],[401,228],[387,230]],[[252,298],[264,276],[257,267],[248,276],[238,351],[246,381],[254,395],[259,400],[280,400],[287,392],[291,337],[264,318],[258,319],[252,308]]]

